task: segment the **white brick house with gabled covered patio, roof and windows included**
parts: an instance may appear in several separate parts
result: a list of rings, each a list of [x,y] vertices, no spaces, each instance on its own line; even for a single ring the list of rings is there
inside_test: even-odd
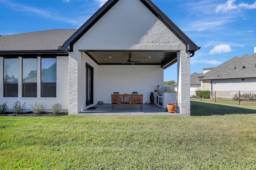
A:
[[[198,49],[150,0],[108,0],[78,30],[0,36],[0,103],[61,103],[77,114],[111,103],[114,91],[137,91],[145,103],[177,62],[179,110],[189,115],[190,57]]]

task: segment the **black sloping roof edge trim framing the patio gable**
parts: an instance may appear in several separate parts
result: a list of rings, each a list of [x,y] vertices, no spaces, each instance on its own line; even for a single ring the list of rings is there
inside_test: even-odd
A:
[[[85,22],[63,45],[63,50],[73,50],[73,45],[88,31],[104,14],[106,14],[119,0],[108,0],[87,22]],[[172,31],[184,44],[186,51],[194,53],[200,49],[188,38],[151,0],[140,0],[166,27]]]

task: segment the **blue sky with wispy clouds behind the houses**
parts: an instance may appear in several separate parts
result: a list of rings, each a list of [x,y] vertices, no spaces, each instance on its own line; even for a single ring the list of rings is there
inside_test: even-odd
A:
[[[190,73],[254,53],[256,0],[152,0],[196,45]],[[106,0],[0,0],[0,35],[78,29]],[[132,12],[132,10],[131,10]],[[164,81],[177,81],[177,65]]]

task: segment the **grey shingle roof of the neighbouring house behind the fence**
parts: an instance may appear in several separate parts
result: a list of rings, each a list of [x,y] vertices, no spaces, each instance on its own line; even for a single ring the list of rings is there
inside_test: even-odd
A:
[[[238,79],[256,77],[256,53],[233,57],[225,63],[214,67],[200,80]]]

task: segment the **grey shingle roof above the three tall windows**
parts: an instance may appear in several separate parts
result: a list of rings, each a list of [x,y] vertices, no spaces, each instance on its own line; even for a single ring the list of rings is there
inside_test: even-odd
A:
[[[45,30],[0,36],[0,51],[57,50],[76,30]]]

